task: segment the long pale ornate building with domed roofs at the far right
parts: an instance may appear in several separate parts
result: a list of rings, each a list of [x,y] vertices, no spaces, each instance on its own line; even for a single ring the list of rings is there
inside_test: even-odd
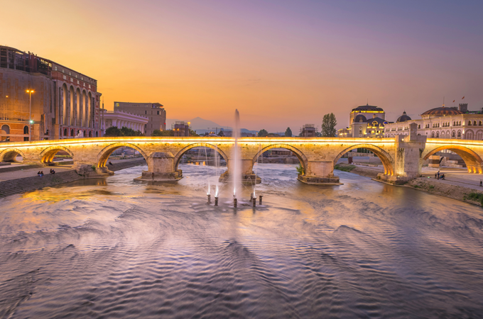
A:
[[[396,123],[384,128],[384,136],[408,135],[409,125],[418,124],[418,135],[428,138],[457,138],[462,140],[483,140],[483,111],[468,111],[468,104],[458,107],[431,108],[422,113],[421,118],[412,120],[406,112]]]

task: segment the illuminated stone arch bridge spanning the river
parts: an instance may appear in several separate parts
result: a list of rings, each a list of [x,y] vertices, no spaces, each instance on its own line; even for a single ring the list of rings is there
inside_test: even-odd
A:
[[[226,179],[233,174],[234,138],[174,138],[174,137],[121,137],[78,138],[43,140],[34,142],[0,143],[0,161],[13,162],[18,155],[28,164],[52,165],[57,152],[63,150],[72,156],[74,168],[86,177],[113,174],[106,165],[109,155],[119,147],[132,147],[143,155],[148,163],[140,179],[166,181],[178,180],[183,172],[178,164],[185,152],[193,147],[210,147],[217,150],[227,162]],[[274,147],[291,150],[304,169],[298,179],[308,184],[337,184],[334,175],[337,160],[356,148],[374,152],[384,165],[384,173],[378,179],[401,184],[418,177],[425,159],[440,150],[452,150],[465,160],[468,172],[483,172],[483,141],[428,139],[416,135],[416,124],[411,133],[395,138],[239,138],[241,171],[245,179],[253,179],[253,166],[263,152]]]

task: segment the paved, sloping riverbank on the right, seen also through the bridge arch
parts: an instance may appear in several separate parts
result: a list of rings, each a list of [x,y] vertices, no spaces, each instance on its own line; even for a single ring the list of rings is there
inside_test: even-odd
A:
[[[379,167],[359,167],[357,165],[339,163],[335,169],[344,172],[358,174],[364,177],[371,177],[376,180],[377,174],[384,172]],[[441,173],[445,174],[445,180],[435,179],[434,174],[438,169],[423,168],[423,176],[408,181],[404,187],[411,187],[419,191],[425,191],[430,194],[444,196],[448,198],[472,203],[473,205],[482,206],[483,187],[479,186],[479,176],[476,174],[468,174],[466,169],[455,169],[452,167],[443,167]]]

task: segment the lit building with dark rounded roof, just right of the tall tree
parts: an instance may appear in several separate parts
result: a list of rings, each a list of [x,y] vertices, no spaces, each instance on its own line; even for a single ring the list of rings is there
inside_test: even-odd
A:
[[[371,118],[369,116],[372,116]],[[349,114],[349,127],[337,130],[340,138],[382,138],[386,112],[369,104],[353,108]]]

